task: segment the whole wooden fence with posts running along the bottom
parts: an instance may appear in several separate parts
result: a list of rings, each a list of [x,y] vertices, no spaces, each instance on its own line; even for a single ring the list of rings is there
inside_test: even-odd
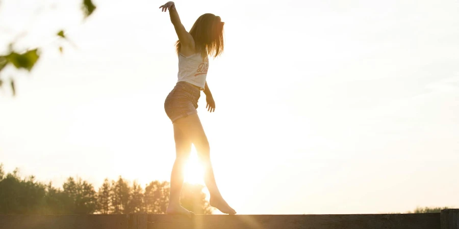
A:
[[[0,215],[1,229],[459,229],[459,209],[356,215]]]

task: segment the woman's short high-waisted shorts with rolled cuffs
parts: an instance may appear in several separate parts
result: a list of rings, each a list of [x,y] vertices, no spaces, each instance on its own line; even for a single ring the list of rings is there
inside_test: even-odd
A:
[[[175,120],[197,113],[197,102],[201,91],[188,82],[177,82],[164,101],[164,110],[172,123]]]

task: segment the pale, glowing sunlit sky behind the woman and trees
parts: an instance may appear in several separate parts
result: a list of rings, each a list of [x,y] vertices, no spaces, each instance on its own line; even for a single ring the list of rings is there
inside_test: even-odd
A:
[[[0,162],[56,186],[169,180],[177,37],[165,2],[94,3],[84,23],[79,0],[0,3],[0,49],[24,30],[17,48],[44,48],[30,75],[2,72],[17,96],[0,91]],[[203,13],[225,22],[207,78],[216,110],[201,93],[198,115],[238,214],[459,207],[456,0],[175,4],[187,30]],[[77,48],[53,36],[62,28]],[[196,171],[194,156],[187,180],[202,183]]]

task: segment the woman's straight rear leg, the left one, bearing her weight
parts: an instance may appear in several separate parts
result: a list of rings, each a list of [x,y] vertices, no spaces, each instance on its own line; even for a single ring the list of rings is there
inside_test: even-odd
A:
[[[180,194],[184,181],[185,165],[191,152],[191,141],[180,128],[174,124],[175,162],[170,175],[170,194],[167,214],[183,214],[191,216],[193,213],[180,205]]]

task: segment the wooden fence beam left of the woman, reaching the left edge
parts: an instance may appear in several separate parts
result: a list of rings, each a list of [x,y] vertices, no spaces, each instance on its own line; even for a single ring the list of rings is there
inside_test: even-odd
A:
[[[127,229],[127,217],[119,215],[0,215],[5,229]]]

